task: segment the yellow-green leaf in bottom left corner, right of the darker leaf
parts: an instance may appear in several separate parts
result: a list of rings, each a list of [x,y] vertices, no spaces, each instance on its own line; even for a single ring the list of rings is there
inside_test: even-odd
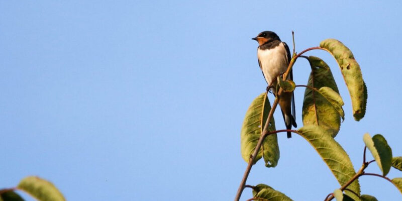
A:
[[[61,192],[51,182],[36,176],[28,176],[17,186],[40,201],[65,201]]]

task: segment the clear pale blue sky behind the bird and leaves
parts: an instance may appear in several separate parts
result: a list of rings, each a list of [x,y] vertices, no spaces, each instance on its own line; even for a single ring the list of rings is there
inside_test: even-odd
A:
[[[307,54],[327,61],[344,99],[336,140],[356,169],[366,132],[383,134],[402,156],[401,8],[401,1],[0,1],[0,188],[38,175],[68,200],[232,200],[246,168],[240,128],[266,87],[251,38],[265,30],[290,48],[295,31],[297,52],[326,38],[348,46],[368,87],[360,122],[335,60]],[[307,83],[305,60],[293,72]],[[303,95],[298,88],[299,127]],[[279,111],[274,117],[283,129]],[[293,136],[279,135],[278,166],[258,162],[247,184],[323,200],[339,185]],[[380,170],[372,164],[367,172]],[[360,184],[379,200],[402,199],[379,177]],[[242,200],[251,196],[246,189]]]

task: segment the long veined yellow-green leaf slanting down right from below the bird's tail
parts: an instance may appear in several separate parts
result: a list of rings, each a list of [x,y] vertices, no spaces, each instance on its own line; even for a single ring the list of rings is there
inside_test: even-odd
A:
[[[316,149],[341,186],[346,184],[356,174],[348,154],[331,137],[332,134],[329,130],[320,126],[309,125],[300,128],[297,132]],[[348,189],[360,195],[358,180],[353,181],[348,186]],[[353,193],[348,191],[345,193],[353,199],[358,200],[358,197],[356,198],[356,195]]]

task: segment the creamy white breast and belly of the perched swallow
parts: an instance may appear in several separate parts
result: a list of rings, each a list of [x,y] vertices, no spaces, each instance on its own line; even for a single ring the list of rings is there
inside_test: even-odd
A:
[[[273,81],[276,83],[276,76],[283,73],[287,69],[286,49],[282,43],[278,46],[261,50],[257,50],[258,59],[261,62],[261,70],[264,73],[265,80],[268,84]]]

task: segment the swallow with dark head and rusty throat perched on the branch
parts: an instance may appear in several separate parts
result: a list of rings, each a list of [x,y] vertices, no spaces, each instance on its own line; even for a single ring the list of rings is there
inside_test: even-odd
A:
[[[252,38],[259,44],[257,48],[258,64],[268,86],[276,96],[276,77],[280,76],[287,69],[290,62],[290,50],[286,43],[281,42],[278,35],[271,31],[264,31]],[[287,79],[292,80],[292,71],[289,72]],[[282,92],[279,96],[279,106],[282,111],[286,129],[291,129],[292,125],[297,127],[294,112],[293,92]],[[291,138],[291,133],[287,132],[287,138]]]

